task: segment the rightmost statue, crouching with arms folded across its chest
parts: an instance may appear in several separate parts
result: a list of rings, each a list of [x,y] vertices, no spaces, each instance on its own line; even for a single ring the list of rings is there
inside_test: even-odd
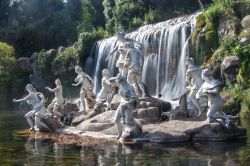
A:
[[[208,69],[204,69],[201,76],[205,82],[197,92],[196,98],[198,99],[202,95],[206,95],[208,98],[207,121],[211,123],[217,119],[221,119],[223,125],[228,127],[231,118],[221,111],[221,107],[224,104],[224,100],[220,96],[221,82],[215,80],[212,73]]]

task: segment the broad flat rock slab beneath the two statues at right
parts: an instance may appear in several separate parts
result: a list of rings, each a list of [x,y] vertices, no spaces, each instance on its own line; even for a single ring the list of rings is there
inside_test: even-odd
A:
[[[144,136],[152,142],[219,141],[246,138],[246,129],[206,121],[172,120],[143,126]]]

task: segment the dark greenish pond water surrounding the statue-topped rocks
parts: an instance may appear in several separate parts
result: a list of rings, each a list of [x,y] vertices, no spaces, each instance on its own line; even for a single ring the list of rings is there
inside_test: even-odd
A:
[[[0,166],[78,165],[250,165],[248,140],[181,144],[62,145],[49,139],[20,137],[28,128],[21,111],[0,111]],[[249,121],[242,126],[250,130]]]

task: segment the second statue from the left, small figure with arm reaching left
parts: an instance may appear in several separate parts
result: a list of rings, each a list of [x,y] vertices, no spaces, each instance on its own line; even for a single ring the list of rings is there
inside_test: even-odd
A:
[[[55,98],[52,100],[51,104],[48,106],[48,112],[53,112],[55,116],[58,118],[63,117],[62,113],[58,111],[59,108],[63,107],[64,98],[63,98],[63,89],[62,84],[59,79],[55,80],[56,87],[51,89],[49,87],[45,87],[45,89],[49,90],[50,92],[55,93]]]

